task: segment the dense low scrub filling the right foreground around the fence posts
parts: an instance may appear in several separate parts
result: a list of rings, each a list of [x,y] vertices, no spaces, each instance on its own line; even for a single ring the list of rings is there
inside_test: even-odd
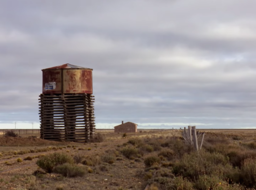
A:
[[[134,138],[118,151],[128,159],[141,155],[138,177],[158,190],[256,189],[256,141],[239,140],[206,134],[198,153],[179,137]]]

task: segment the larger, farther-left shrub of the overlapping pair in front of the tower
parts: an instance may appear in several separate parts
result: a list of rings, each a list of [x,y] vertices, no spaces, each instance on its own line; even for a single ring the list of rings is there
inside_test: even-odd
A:
[[[51,173],[54,167],[61,164],[73,164],[74,159],[65,153],[53,153],[44,157],[39,157],[36,164],[43,170]]]

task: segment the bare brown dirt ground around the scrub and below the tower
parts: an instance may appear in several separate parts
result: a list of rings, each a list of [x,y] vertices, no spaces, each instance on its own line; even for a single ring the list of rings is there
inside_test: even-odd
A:
[[[239,135],[244,138],[256,138],[256,130],[199,130],[206,135],[228,137]],[[144,157],[137,161],[119,157],[114,164],[103,163],[106,170],[95,170],[84,177],[66,178],[56,174],[46,174],[34,177],[38,169],[35,164],[38,157],[53,152],[65,152],[72,156],[76,154],[105,154],[109,149],[127,143],[132,138],[180,136],[179,130],[143,131],[128,133],[123,138],[121,133],[101,132],[104,141],[100,143],[52,142],[39,138],[4,138],[0,137],[0,190],[144,190],[145,183],[136,177],[139,170],[145,168]],[[26,157],[33,160],[24,160]],[[22,162],[17,162],[21,158]]]

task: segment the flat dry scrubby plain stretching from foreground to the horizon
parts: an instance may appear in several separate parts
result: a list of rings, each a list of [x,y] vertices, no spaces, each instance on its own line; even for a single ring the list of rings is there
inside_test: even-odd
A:
[[[206,132],[199,154],[186,144],[181,130],[127,134],[102,131],[89,143],[53,142],[27,135],[1,136],[0,189],[255,188],[256,130],[199,131]],[[50,155],[70,157],[72,163],[62,168],[56,164],[57,169],[47,172],[46,166],[39,163],[46,162],[44,159]]]

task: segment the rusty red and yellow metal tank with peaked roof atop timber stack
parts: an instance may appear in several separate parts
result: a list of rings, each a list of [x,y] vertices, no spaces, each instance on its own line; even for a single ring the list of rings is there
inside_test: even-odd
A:
[[[92,71],[68,63],[43,69],[43,94],[92,94]]]

